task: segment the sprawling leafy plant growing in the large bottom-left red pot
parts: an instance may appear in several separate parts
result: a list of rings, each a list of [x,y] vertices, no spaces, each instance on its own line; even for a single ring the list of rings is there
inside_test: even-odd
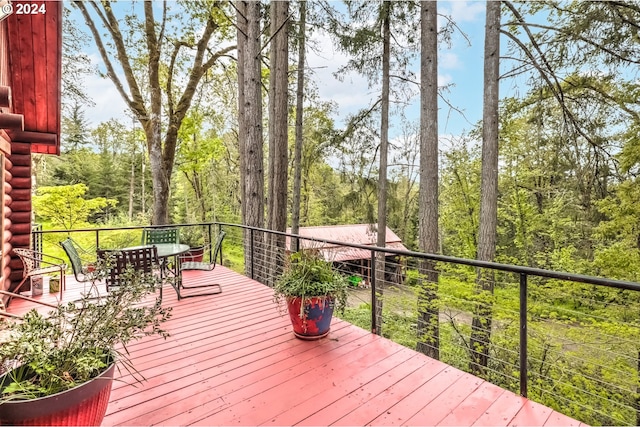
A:
[[[108,263],[108,262],[107,262]],[[95,280],[106,272],[99,263]],[[0,346],[0,403],[48,396],[71,389],[100,375],[113,361],[142,380],[128,359],[127,344],[144,336],[159,334],[171,313],[160,300],[146,305],[157,279],[128,270],[124,281],[106,295],[91,293],[59,305],[43,316],[35,309],[22,320],[6,321]]]

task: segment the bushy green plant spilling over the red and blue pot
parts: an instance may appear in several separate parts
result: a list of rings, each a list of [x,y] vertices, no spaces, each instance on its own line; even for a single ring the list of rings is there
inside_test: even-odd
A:
[[[335,309],[341,313],[347,306],[348,289],[349,279],[346,276],[310,252],[292,254],[274,286],[277,303],[299,297],[304,306],[313,297],[328,296],[335,299]]]

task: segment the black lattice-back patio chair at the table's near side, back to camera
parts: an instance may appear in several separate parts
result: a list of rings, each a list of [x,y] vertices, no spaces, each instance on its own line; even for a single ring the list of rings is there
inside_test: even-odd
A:
[[[157,281],[160,278],[160,300],[162,300],[162,269],[155,246],[144,246],[136,249],[98,249],[98,258],[107,266],[105,282],[107,292],[114,287],[126,286],[133,272],[141,272],[147,280]]]

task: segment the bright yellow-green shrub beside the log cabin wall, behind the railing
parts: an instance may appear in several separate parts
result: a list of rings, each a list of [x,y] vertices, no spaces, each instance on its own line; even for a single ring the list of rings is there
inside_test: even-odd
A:
[[[90,215],[116,205],[114,199],[104,197],[84,199],[86,192],[84,184],[40,187],[33,197],[33,205],[39,217],[55,226],[65,230],[81,228]]]

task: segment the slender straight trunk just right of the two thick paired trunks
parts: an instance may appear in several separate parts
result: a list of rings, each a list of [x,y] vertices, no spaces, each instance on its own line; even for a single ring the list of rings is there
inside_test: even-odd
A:
[[[304,114],[304,62],[306,46],[307,2],[300,2],[298,23],[298,81],[296,87],[296,140],[293,154],[293,202],[291,206],[291,233],[300,232],[300,189],[302,186],[302,118]],[[291,241],[291,249],[299,249],[297,239]]]

